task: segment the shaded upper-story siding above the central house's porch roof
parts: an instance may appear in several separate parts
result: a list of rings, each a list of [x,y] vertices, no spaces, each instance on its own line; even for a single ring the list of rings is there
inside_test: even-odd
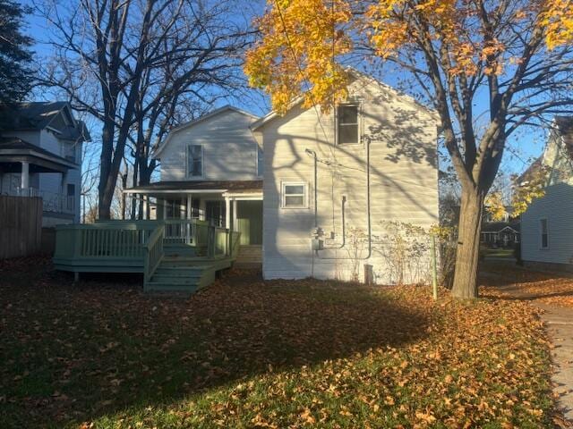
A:
[[[163,149],[161,181],[186,181],[186,148],[203,147],[201,181],[252,181],[257,176],[257,143],[249,125],[256,118],[234,110],[172,131]]]

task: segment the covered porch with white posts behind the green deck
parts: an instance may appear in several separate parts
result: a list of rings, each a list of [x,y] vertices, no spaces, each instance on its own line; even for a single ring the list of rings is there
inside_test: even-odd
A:
[[[238,232],[236,264],[261,265],[262,181],[164,181],[125,193],[142,205],[142,220],[196,220]]]

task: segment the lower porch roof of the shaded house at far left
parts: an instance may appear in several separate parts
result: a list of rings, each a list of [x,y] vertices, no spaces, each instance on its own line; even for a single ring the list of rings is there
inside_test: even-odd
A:
[[[0,163],[6,164],[4,170],[10,172],[16,169],[15,166],[11,168],[11,165],[21,162],[32,164],[30,165],[32,172],[67,172],[78,168],[78,165],[69,159],[17,137],[0,137]]]

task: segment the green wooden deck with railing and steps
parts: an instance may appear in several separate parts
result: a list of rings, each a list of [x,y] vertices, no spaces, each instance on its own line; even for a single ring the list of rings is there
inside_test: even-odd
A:
[[[146,291],[193,292],[233,265],[239,238],[197,220],[58,225],[54,265],[73,273],[142,273]]]

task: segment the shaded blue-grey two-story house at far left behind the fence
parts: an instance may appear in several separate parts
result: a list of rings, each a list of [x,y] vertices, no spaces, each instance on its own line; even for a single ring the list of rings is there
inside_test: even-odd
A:
[[[0,105],[0,193],[41,197],[43,226],[80,222],[81,145],[66,102]]]

